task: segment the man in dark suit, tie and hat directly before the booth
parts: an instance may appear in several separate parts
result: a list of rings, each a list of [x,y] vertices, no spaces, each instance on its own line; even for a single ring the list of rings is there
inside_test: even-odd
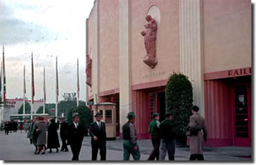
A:
[[[103,121],[100,121],[102,114],[97,112],[96,121],[89,127],[89,135],[92,137],[92,160],[97,160],[98,149],[100,149],[100,160],[106,160],[106,127]]]

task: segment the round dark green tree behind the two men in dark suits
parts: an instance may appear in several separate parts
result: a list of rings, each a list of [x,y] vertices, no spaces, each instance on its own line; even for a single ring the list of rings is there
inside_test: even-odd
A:
[[[83,125],[83,130],[85,131],[85,135],[87,135],[87,130],[89,128],[89,125],[94,121],[94,118],[92,116],[91,110],[89,109],[89,107],[85,106],[85,105],[79,105],[78,107],[74,108],[74,110],[71,110],[68,113],[67,116],[67,120],[68,122],[72,122],[72,115],[78,112],[79,117],[80,117],[80,123],[81,125]]]

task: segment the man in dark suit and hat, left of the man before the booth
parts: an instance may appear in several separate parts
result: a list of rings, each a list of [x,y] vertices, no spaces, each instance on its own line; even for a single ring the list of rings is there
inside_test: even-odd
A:
[[[78,157],[83,142],[83,127],[79,123],[78,113],[74,113],[72,118],[73,123],[67,126],[67,141],[73,154],[72,160],[79,160]]]

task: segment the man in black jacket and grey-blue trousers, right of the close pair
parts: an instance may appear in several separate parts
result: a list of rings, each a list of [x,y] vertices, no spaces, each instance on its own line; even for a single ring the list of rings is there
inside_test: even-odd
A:
[[[173,124],[171,112],[167,112],[165,116],[166,116],[166,119],[160,123],[160,134],[161,134],[160,160],[165,160],[167,151],[168,151],[169,160],[174,160],[174,153],[175,153],[174,124]]]

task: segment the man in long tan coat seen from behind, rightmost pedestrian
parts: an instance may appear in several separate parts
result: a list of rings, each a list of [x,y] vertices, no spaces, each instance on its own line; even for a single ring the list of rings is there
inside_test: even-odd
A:
[[[207,131],[204,118],[198,113],[199,107],[191,108],[192,116],[189,120],[187,136],[189,138],[189,149],[191,152],[189,160],[204,160],[204,140],[207,140]]]

